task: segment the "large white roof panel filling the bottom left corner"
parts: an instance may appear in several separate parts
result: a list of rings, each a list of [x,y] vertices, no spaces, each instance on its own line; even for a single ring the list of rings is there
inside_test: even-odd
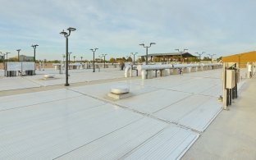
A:
[[[111,104],[66,101],[0,112],[0,159],[57,158],[142,118]]]

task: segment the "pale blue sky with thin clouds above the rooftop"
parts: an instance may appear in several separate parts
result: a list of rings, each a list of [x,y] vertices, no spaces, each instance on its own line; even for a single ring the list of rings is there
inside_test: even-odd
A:
[[[75,27],[69,51],[91,60],[145,54],[139,43],[157,43],[149,53],[188,48],[215,57],[255,50],[255,0],[0,0],[0,51],[62,59],[63,29]]]

